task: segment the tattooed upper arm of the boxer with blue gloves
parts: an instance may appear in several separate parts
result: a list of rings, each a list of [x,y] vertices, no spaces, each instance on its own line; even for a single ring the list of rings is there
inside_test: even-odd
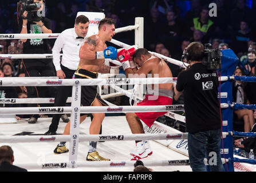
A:
[[[85,42],[82,43],[79,51],[79,57],[81,59],[96,59],[95,47],[99,42],[99,37],[97,35],[92,35],[86,38]]]

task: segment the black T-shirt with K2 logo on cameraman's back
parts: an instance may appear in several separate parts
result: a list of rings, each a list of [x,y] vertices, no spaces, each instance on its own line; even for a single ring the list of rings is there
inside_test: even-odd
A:
[[[204,132],[220,128],[218,76],[202,63],[178,75],[176,89],[183,91],[186,131]]]

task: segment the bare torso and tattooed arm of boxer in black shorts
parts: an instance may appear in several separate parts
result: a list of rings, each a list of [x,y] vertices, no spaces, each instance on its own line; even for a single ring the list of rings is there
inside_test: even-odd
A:
[[[97,35],[86,38],[80,48],[79,66],[82,69],[98,72],[100,67],[104,65],[104,59],[96,59],[96,51],[103,51],[106,47],[107,45]]]

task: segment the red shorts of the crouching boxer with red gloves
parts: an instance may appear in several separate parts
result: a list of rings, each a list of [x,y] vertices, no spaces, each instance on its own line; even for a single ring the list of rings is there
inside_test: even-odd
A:
[[[148,99],[149,97],[149,99]],[[156,100],[153,100],[155,98]],[[150,100],[152,99],[152,100]],[[145,95],[145,99],[137,103],[137,106],[144,105],[172,105],[172,98],[165,96],[153,96]],[[149,113],[135,113],[140,120],[142,120],[149,128],[153,125],[156,119],[160,116],[163,116],[167,112],[149,112]]]

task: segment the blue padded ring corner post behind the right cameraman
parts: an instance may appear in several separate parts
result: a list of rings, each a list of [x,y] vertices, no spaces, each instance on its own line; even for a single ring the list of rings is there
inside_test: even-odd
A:
[[[223,75],[233,75],[235,71],[235,67],[238,63],[238,58],[231,49],[222,50],[222,76]],[[220,87],[221,93],[227,93],[226,97],[221,97],[221,103],[231,104],[233,102],[232,95],[232,82],[226,81],[221,84]],[[219,97],[222,96],[221,93]],[[233,109],[226,108],[222,109],[222,132],[233,132]],[[227,136],[223,139],[223,147],[220,145],[220,154],[222,158],[226,158],[228,160],[233,160],[233,137],[231,135]],[[224,152],[223,152],[224,149]],[[224,156],[225,153],[225,156]],[[227,166],[224,165],[225,171],[227,168],[229,172],[234,172],[234,162],[229,161]]]

